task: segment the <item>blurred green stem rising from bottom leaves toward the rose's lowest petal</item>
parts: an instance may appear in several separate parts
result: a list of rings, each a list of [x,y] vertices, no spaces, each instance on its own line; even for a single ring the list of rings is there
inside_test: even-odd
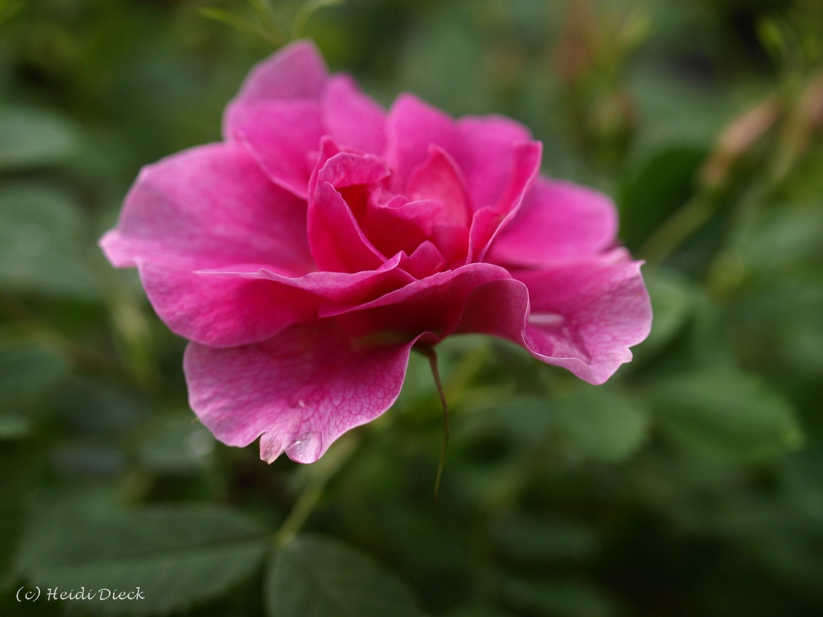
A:
[[[337,476],[337,472],[349,460],[351,453],[355,452],[357,444],[358,439],[354,435],[346,435],[346,437],[338,439],[334,447],[329,448],[328,452],[318,462],[306,467],[306,471],[310,474],[309,481],[298,495],[295,505],[291,508],[286,520],[275,532],[274,543],[276,545],[285,545],[303,528],[323,496],[323,490],[329,481]]]

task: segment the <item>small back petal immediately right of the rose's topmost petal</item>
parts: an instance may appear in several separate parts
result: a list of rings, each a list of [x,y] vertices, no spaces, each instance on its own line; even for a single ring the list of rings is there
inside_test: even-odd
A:
[[[384,110],[357,89],[347,75],[328,80],[323,91],[323,125],[334,141],[363,152],[381,154],[386,137]]]

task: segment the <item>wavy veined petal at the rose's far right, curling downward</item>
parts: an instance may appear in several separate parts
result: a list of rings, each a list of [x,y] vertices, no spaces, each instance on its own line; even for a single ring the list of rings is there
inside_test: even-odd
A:
[[[652,309],[640,265],[604,257],[487,283],[467,299],[458,332],[508,338],[547,364],[603,383],[649,335]]]

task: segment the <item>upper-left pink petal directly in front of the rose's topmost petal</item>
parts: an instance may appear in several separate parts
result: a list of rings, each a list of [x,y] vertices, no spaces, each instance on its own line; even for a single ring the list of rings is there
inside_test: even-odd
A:
[[[272,182],[297,197],[308,196],[309,174],[323,124],[320,105],[311,100],[233,103],[226,109],[224,132],[254,155]]]

